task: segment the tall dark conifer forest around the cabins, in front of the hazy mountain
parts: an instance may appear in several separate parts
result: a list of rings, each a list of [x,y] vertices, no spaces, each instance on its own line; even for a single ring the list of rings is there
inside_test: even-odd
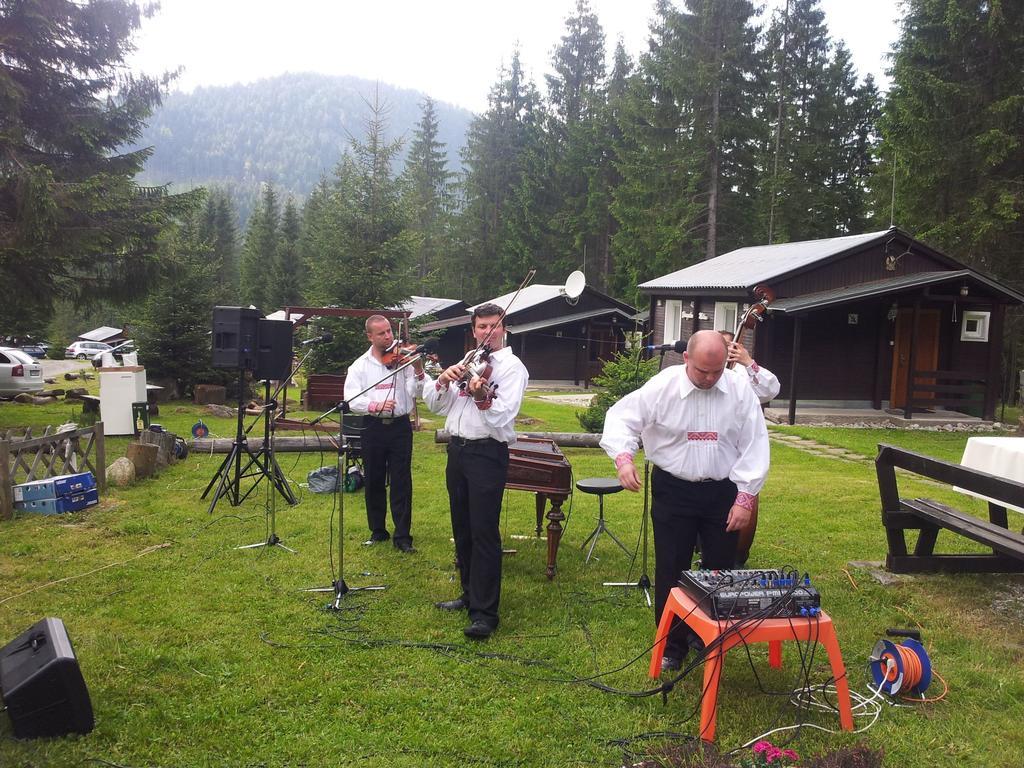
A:
[[[162,139],[130,147],[151,130],[164,89],[119,68],[144,8],[62,3],[78,26],[46,27],[26,11],[41,3],[0,15],[12,84],[0,89],[11,116],[0,148],[13,159],[0,189],[0,272],[30,286],[40,308],[0,308],[8,329],[140,317],[161,348],[157,334],[187,336],[175,323],[188,317],[193,336],[204,335],[215,303],[474,302],[530,267],[541,283],[582,267],[591,285],[636,303],[638,283],[734,248],[890,221],[1022,287],[1020,3],[907,0],[883,97],[857,76],[817,0],[768,17],[750,0],[662,0],[646,49],[620,45],[611,60],[599,18],[579,0],[543,89],[511,52],[469,123],[461,167],[435,102],[421,99],[409,132],[408,115],[399,120],[375,87],[305,197],[278,170],[253,171],[259,191],[244,225],[227,186],[137,186]],[[79,77],[55,78],[53,62]],[[217,131],[231,140],[230,128]],[[236,143],[246,131],[234,128]],[[161,314],[168,307],[175,323]],[[343,344],[325,351],[351,356]]]

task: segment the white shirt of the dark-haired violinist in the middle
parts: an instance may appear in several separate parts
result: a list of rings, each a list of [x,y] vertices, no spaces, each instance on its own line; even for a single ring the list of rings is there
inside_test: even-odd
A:
[[[423,399],[433,413],[446,417],[444,429],[450,435],[467,440],[492,437],[512,444],[515,442],[515,417],[522,404],[529,373],[510,347],[493,352],[490,365],[495,398],[489,406],[480,408],[458,384],[439,386],[429,376],[423,382]]]

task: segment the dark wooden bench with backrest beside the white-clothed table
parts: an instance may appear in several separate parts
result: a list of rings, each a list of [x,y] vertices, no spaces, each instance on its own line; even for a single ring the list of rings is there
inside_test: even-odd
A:
[[[931,499],[901,499],[896,468],[964,490],[997,499],[988,503],[988,520],[953,509]],[[1009,529],[1007,508],[1024,508],[1024,483],[987,472],[933,459],[912,451],[879,445],[874,460],[882,498],[882,524],[886,527],[889,553],[886,567],[897,573],[947,571],[1005,573],[1024,571],[1024,535]],[[905,531],[918,529],[913,552],[906,547]],[[991,549],[979,554],[935,554],[939,531],[950,530]]]

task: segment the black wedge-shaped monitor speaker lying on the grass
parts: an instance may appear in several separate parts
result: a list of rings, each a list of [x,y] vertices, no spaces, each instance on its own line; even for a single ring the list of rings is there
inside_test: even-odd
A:
[[[92,703],[63,622],[43,618],[0,649],[0,695],[17,738],[92,730]]]

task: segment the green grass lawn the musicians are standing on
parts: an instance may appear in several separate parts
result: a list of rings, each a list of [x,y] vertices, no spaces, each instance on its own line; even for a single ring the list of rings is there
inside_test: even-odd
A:
[[[57,424],[69,409],[2,403],[0,430]],[[525,429],[579,430],[575,410],[530,396]],[[156,420],[187,435],[199,413],[175,402]],[[204,421],[215,434],[233,433],[230,419]],[[279,500],[276,531],[297,554],[237,550],[267,537],[268,484],[238,508],[222,501],[208,514],[200,494],[220,456],[193,453],[158,478],[109,490],[86,513],[0,522],[0,641],[43,616],[61,617],[96,712],[86,737],[18,742],[3,721],[0,766],[616,766],[618,739],[695,733],[699,674],[664,702],[628,695],[654,688],[646,676],[653,616],[636,590],[602,587],[639,572],[610,540],[584,563],[592,497],[574,497],[559,572],[549,582],[545,542],[532,536],[534,499],[507,495],[502,528],[516,553],[505,559],[502,625],[488,642],[466,640],[465,616],[433,607],[456,596],[458,584],[444,453],[433,442],[440,423],[424,426],[413,470],[419,551],[361,546],[362,499],[345,495],[344,577],[350,586],[387,589],[351,593],[338,612],[325,609],[325,596],[301,591],[337,575],[335,498],[297,486],[298,506]],[[968,436],[786,430],[867,456],[884,439],[947,459],[958,458]],[[126,443],[110,438],[108,460]],[[599,451],[565,453],[578,478],[612,474]],[[296,483],[334,461],[279,455]],[[920,627],[949,684],[937,703],[885,707],[862,734],[805,729],[791,745],[804,755],[862,739],[884,749],[891,766],[1024,764],[1024,580],[926,575],[881,586],[849,565],[885,556],[871,465],[774,443],[772,462],[751,564],[811,573],[836,622],[851,687],[865,691],[867,656],[889,627]],[[951,490],[922,485],[921,493],[967,506]],[[633,494],[605,503],[609,526],[631,548],[641,509]],[[781,671],[768,668],[763,647],[751,650],[753,669],[741,650],[730,654],[719,697],[722,749],[801,719],[838,728],[838,717],[801,714],[787,702],[784,692],[800,678],[798,650],[807,653],[787,645]],[[812,680],[824,682],[824,652],[807,660]]]

